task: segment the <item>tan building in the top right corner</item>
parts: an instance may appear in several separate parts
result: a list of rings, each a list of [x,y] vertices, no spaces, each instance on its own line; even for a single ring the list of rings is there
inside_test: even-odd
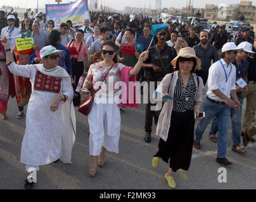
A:
[[[256,21],[256,6],[252,5],[252,1],[241,1],[238,6],[237,20],[240,20],[240,16],[245,16],[245,21],[252,23]]]

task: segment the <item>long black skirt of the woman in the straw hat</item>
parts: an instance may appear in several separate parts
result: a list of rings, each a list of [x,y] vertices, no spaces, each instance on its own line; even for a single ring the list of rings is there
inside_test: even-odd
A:
[[[188,170],[193,150],[195,114],[193,110],[186,112],[172,111],[167,141],[160,138],[158,152],[154,157],[161,157],[176,172]]]

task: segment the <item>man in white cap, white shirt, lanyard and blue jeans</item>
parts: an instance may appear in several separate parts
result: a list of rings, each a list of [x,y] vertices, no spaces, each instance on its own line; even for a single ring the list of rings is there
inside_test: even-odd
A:
[[[240,102],[236,94],[236,67],[231,63],[240,50],[234,42],[222,47],[221,60],[212,64],[208,74],[207,98],[203,103],[205,118],[199,122],[195,131],[194,146],[200,149],[203,132],[212,119],[218,117],[218,152],[216,161],[222,165],[231,165],[226,158],[227,133],[230,120],[230,109],[240,110]],[[231,98],[232,97],[232,98]]]

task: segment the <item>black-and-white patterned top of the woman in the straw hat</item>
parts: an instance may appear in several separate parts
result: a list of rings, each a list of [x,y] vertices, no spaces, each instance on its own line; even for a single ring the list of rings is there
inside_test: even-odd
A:
[[[184,88],[182,76],[179,73],[177,85],[174,90],[174,108],[176,112],[186,112],[186,110],[194,110],[196,97],[196,83],[193,75],[189,76],[188,84]]]

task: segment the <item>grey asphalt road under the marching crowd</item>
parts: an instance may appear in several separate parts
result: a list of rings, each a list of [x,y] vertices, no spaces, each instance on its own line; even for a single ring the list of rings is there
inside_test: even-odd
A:
[[[87,117],[76,109],[74,163],[57,162],[41,166],[34,189],[169,189],[164,179],[168,164],[160,162],[156,169],[151,167],[152,156],[158,149],[158,137],[153,136],[151,143],[144,141],[144,109],[145,105],[141,104],[138,109],[121,112],[120,153],[106,153],[105,167],[98,167],[94,178],[89,177],[91,157]],[[11,99],[8,120],[0,120],[0,189],[23,189],[27,177],[25,165],[20,163],[25,118],[16,119],[17,112],[16,100]],[[201,141],[202,150],[193,150],[188,172],[178,170],[174,174],[177,189],[256,189],[256,144],[250,143],[243,155],[231,151],[229,128],[227,159],[234,164],[224,167],[227,182],[220,183],[218,169],[223,166],[215,162],[217,144],[208,139],[209,129],[210,126]]]

